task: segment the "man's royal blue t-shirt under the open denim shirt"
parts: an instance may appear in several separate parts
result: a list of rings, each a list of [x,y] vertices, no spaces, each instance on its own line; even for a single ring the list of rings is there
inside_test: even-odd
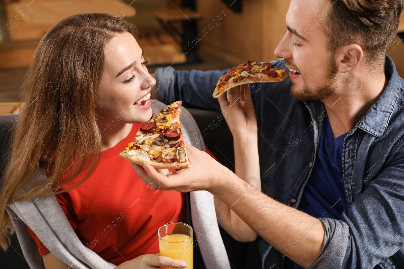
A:
[[[298,206],[313,217],[341,219],[342,212],[348,209],[342,174],[342,147],[346,135],[334,139],[328,117],[324,117],[316,162]],[[303,267],[289,261],[287,268]]]

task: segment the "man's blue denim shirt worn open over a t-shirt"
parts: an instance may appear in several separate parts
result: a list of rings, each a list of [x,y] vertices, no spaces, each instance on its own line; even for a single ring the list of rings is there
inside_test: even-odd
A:
[[[272,63],[289,72],[283,59]],[[227,71],[159,68],[158,100],[182,100],[185,107],[220,111],[212,93]],[[324,244],[311,268],[404,268],[404,81],[387,55],[385,75],[387,87],[345,137],[343,177],[349,209],[341,219],[320,216]],[[290,85],[286,78],[252,83],[250,89],[258,122],[262,191],[297,208],[316,162],[326,111],[322,102],[293,99]],[[304,240],[313,227],[302,229],[299,237]],[[284,256],[262,238],[258,241],[263,268],[282,268]],[[288,249],[299,247],[297,242]]]

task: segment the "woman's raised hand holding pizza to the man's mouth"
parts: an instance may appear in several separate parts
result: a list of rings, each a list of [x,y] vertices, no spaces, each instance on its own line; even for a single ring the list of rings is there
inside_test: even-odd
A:
[[[249,133],[257,133],[257,116],[248,84],[229,89],[227,100],[224,94],[217,99],[233,137],[245,138]]]

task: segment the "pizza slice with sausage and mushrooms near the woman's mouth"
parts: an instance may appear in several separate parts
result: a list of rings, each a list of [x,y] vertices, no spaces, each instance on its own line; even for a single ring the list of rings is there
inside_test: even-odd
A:
[[[140,127],[135,141],[119,155],[137,165],[154,168],[189,168],[184,138],[181,133],[181,103],[177,101]]]

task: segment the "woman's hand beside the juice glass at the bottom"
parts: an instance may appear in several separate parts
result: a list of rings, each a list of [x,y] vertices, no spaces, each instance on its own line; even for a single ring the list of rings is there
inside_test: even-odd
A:
[[[116,269],[149,269],[156,267],[186,268],[187,263],[182,260],[160,256],[159,254],[145,254],[122,263]]]

